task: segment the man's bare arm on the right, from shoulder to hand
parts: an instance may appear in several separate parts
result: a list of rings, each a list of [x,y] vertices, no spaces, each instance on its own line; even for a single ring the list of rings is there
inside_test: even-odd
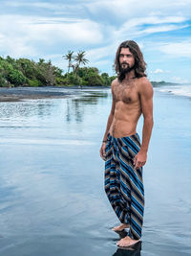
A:
[[[138,169],[146,163],[149,141],[153,128],[153,86],[146,78],[139,88],[140,105],[144,118],[142,128],[142,144],[134,159],[135,168]]]

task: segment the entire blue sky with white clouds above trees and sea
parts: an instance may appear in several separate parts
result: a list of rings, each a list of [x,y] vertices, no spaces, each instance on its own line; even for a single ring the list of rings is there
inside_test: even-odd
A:
[[[118,45],[135,40],[151,81],[191,83],[191,0],[0,0],[0,56],[51,59],[69,50],[115,75]]]

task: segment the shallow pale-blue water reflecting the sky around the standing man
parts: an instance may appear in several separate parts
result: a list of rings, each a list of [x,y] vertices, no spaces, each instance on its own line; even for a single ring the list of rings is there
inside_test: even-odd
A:
[[[131,249],[117,248],[103,189],[111,101],[108,89],[86,89],[0,103],[0,255],[191,255],[190,98],[155,92],[142,242]]]

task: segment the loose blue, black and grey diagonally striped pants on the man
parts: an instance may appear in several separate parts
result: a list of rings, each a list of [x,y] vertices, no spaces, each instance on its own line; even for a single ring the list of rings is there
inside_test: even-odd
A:
[[[144,187],[142,168],[135,169],[134,157],[140,149],[138,133],[115,138],[108,133],[105,161],[105,192],[121,223],[129,224],[129,236],[140,239]]]

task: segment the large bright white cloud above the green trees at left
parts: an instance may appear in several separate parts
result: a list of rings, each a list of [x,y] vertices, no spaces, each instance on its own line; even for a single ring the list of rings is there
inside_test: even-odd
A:
[[[102,40],[99,25],[85,19],[1,15],[0,24],[0,51],[15,58],[39,55],[39,45],[95,45]]]

